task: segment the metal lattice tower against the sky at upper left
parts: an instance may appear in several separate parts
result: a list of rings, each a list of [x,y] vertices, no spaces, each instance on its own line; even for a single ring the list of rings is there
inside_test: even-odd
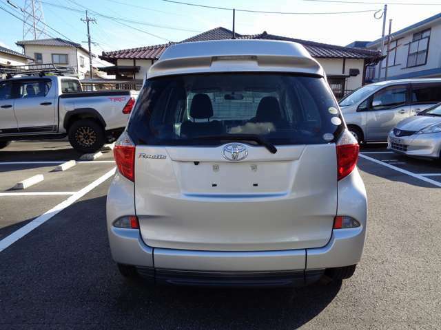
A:
[[[45,36],[46,28],[41,0],[25,0],[23,9],[23,40],[37,40]]]

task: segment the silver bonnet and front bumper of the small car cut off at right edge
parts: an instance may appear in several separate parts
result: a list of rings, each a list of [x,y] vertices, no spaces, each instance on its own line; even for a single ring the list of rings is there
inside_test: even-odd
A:
[[[398,123],[396,129],[402,131],[420,131],[432,124],[441,124],[440,117],[415,115]],[[428,157],[438,159],[441,155],[441,133],[427,133],[407,136],[396,136],[389,132],[388,148],[396,153],[412,157]]]

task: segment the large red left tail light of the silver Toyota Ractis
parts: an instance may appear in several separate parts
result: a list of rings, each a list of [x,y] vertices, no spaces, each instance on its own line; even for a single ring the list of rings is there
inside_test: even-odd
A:
[[[135,181],[135,144],[127,132],[121,134],[113,149],[119,173],[130,181]]]

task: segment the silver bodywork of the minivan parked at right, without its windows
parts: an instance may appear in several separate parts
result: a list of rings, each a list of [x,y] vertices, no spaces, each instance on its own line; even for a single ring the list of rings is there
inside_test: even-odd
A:
[[[440,78],[420,78],[420,79],[400,79],[400,80],[387,80],[379,83],[373,83],[364,87],[376,87],[371,93],[358,100],[355,104],[351,104],[347,107],[341,107],[342,115],[345,118],[346,124],[349,126],[357,126],[361,129],[365,142],[383,142],[387,140],[389,131],[395,127],[398,122],[408,118],[411,115],[431,107],[432,104],[404,104],[396,109],[378,110],[378,111],[357,111],[362,102],[365,102],[376,92],[391,86],[406,86],[412,84],[430,84],[441,83]],[[364,88],[361,87],[361,88]],[[441,100],[440,100],[441,101]]]

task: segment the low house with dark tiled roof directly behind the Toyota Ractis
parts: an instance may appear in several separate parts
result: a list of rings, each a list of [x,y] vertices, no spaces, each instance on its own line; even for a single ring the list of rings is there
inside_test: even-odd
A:
[[[268,39],[294,41],[302,44],[325,69],[329,85],[338,97],[364,85],[365,68],[380,60],[380,53],[375,50],[316,43],[268,34],[266,31],[260,34],[236,33],[234,36],[236,39]],[[179,43],[223,39],[233,39],[233,32],[219,27],[179,41]],[[107,71],[108,74],[115,74],[119,79],[142,80],[154,61],[172,44],[174,43],[103,52],[99,58],[113,63],[114,66],[101,69]]]

